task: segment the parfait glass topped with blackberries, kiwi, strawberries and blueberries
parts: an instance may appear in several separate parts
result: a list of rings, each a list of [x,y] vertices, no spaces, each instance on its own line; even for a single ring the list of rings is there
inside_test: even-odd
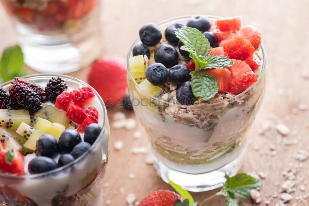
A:
[[[2,204],[101,204],[109,125],[89,85],[43,74],[4,83],[0,134]]]

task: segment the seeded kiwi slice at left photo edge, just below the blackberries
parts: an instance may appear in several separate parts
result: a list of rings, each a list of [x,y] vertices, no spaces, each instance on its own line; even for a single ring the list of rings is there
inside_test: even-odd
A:
[[[30,124],[29,111],[0,109],[0,127],[17,129],[22,122]]]

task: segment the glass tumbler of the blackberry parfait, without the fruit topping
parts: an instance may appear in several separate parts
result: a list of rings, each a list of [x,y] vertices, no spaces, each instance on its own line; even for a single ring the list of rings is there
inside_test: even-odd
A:
[[[60,76],[70,90],[89,86],[81,80],[59,74],[35,74],[23,78],[29,82],[46,85],[47,81],[54,76]],[[11,86],[11,81],[1,86],[7,90]],[[102,204],[102,182],[108,162],[110,134],[104,102],[93,88],[92,90],[97,98],[98,124],[102,130],[90,149],[74,161],[49,172],[18,176],[0,173],[1,205],[97,206]]]

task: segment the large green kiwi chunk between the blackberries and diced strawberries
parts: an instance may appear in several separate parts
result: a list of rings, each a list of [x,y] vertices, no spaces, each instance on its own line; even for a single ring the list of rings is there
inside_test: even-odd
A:
[[[50,122],[58,122],[68,128],[70,120],[66,117],[66,111],[62,109],[58,109],[57,107],[53,107],[49,104],[42,104],[42,109],[34,114],[34,116],[38,116],[45,120],[49,120]]]

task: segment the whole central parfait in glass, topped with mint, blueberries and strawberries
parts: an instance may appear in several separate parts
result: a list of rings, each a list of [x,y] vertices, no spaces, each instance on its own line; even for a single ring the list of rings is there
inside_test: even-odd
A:
[[[241,17],[184,16],[141,27],[129,93],[161,177],[191,191],[235,174],[265,87],[260,32]],[[203,180],[203,181],[201,181]]]

